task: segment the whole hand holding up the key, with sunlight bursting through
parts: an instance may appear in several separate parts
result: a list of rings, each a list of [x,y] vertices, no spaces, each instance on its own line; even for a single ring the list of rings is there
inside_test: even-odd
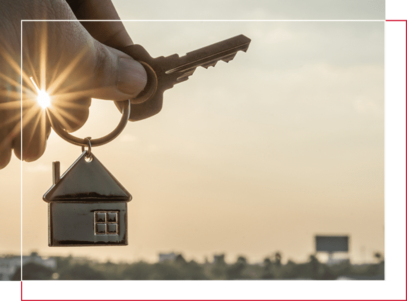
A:
[[[27,162],[44,154],[50,118],[75,131],[85,123],[92,97],[123,101],[144,89],[145,69],[115,49],[133,44],[122,23],[78,19],[119,17],[110,0],[0,0],[0,169],[13,148]],[[21,31],[21,20],[72,21],[23,21]],[[39,90],[50,96],[47,108],[37,101]]]

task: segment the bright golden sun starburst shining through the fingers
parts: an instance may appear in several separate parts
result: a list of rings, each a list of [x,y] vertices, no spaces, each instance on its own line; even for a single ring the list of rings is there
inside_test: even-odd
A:
[[[39,26],[38,44],[31,45],[31,48],[23,47],[19,59],[0,37],[0,61],[7,63],[7,68],[0,70],[0,82],[6,83],[6,89],[0,87],[0,112],[8,110],[10,115],[0,120],[0,129],[8,128],[7,137],[0,141],[0,149],[10,147],[14,139],[20,136],[23,140],[22,158],[25,152],[27,158],[31,158],[32,145],[34,148],[35,145],[45,145],[53,122],[69,130],[83,125],[90,102],[81,100],[93,91],[80,88],[81,84],[91,81],[92,75],[78,76],[78,72],[75,73],[88,51],[87,47],[67,60],[65,56],[52,52],[53,49],[48,51],[47,22]],[[47,64],[50,56],[55,62],[52,68]],[[19,64],[20,59],[24,69]]]

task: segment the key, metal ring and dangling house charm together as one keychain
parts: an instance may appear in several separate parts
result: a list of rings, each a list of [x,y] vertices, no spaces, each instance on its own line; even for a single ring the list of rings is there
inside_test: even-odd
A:
[[[127,202],[131,195],[91,153],[91,147],[114,139],[127,120],[135,121],[157,114],[163,104],[164,91],[183,82],[199,66],[215,66],[220,60],[233,60],[238,51],[246,52],[250,39],[244,35],[191,51],[184,56],[173,54],[153,58],[141,45],[120,49],[139,61],[147,72],[147,85],[136,97],[116,102],[122,117],[108,135],[81,139],[67,133],[51,120],[55,132],[63,139],[82,146],[82,155],[62,175],[59,162],[53,163],[53,185],[43,199],[48,202],[49,246],[127,245]],[[51,118],[52,119],[52,118]],[[85,151],[84,147],[88,149]]]

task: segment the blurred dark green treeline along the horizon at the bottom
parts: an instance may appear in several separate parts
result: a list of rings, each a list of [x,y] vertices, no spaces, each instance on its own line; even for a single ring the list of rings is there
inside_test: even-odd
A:
[[[239,280],[239,279],[315,279],[335,280],[340,276],[354,279],[384,279],[384,261],[352,265],[343,261],[328,266],[311,255],[308,262],[289,260],[281,263],[281,255],[267,257],[262,264],[248,264],[240,256],[236,262],[227,264],[224,255],[215,256],[214,262],[187,261],[182,255],[174,260],[158,263],[144,261],[134,263],[78,261],[74,257],[55,257],[56,268],[44,267],[34,262],[23,265],[23,280]],[[15,274],[20,280],[20,270]]]

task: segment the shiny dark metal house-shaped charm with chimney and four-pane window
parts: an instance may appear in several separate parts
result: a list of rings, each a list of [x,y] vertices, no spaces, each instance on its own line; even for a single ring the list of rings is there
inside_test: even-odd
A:
[[[53,163],[48,202],[49,246],[127,245],[127,202],[131,195],[87,151],[60,177]]]

